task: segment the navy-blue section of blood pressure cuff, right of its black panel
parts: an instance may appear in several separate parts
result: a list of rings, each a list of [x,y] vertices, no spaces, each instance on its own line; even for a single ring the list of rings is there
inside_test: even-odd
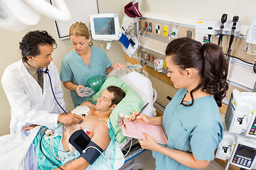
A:
[[[90,146],[92,146],[92,147],[90,147]],[[92,141],[90,141],[90,143],[87,145],[87,147],[90,147],[90,148],[85,149],[86,151],[85,151],[85,153],[81,154],[81,157],[83,159],[85,159],[87,162],[89,162],[90,164],[93,164],[93,162],[95,162],[96,159],[98,157],[100,157],[100,152],[103,152],[103,149],[101,147],[99,147],[97,144],[95,144],[95,142],[92,142]],[[96,147],[97,149],[99,149],[100,152],[93,147]]]

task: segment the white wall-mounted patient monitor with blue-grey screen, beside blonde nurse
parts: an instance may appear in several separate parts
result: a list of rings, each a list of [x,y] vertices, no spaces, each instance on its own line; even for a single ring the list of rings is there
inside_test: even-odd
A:
[[[117,13],[90,15],[90,29],[94,40],[119,40],[122,35]]]

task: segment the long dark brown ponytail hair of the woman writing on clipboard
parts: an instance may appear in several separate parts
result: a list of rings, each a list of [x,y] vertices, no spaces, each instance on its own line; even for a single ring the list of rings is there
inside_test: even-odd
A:
[[[203,87],[203,91],[213,95],[218,107],[221,107],[228,91],[228,65],[221,47],[210,42],[202,45],[191,38],[178,38],[167,45],[166,57],[169,56],[181,69],[195,68],[201,76],[201,83],[190,92],[192,103],[182,103],[183,106],[192,106],[193,92]]]

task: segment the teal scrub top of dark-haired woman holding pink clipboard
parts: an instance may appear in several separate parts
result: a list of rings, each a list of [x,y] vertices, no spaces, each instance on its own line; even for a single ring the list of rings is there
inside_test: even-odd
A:
[[[223,123],[217,103],[213,96],[205,96],[196,98],[192,106],[182,106],[180,103],[186,92],[186,89],[178,90],[164,111],[162,127],[168,140],[165,147],[193,153],[199,160],[211,161],[223,138]],[[153,151],[153,157],[159,170],[192,169],[159,152]]]

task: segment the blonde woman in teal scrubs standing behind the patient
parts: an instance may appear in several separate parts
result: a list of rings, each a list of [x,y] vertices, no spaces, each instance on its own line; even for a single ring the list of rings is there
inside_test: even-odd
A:
[[[90,33],[85,23],[74,23],[70,27],[69,37],[74,50],[63,58],[60,80],[63,81],[65,88],[70,90],[76,107],[89,98],[78,95],[78,89],[86,86],[87,79],[97,75],[105,76],[112,69],[117,67],[124,69],[125,66],[116,63],[112,67],[106,52],[100,47],[92,46]]]

